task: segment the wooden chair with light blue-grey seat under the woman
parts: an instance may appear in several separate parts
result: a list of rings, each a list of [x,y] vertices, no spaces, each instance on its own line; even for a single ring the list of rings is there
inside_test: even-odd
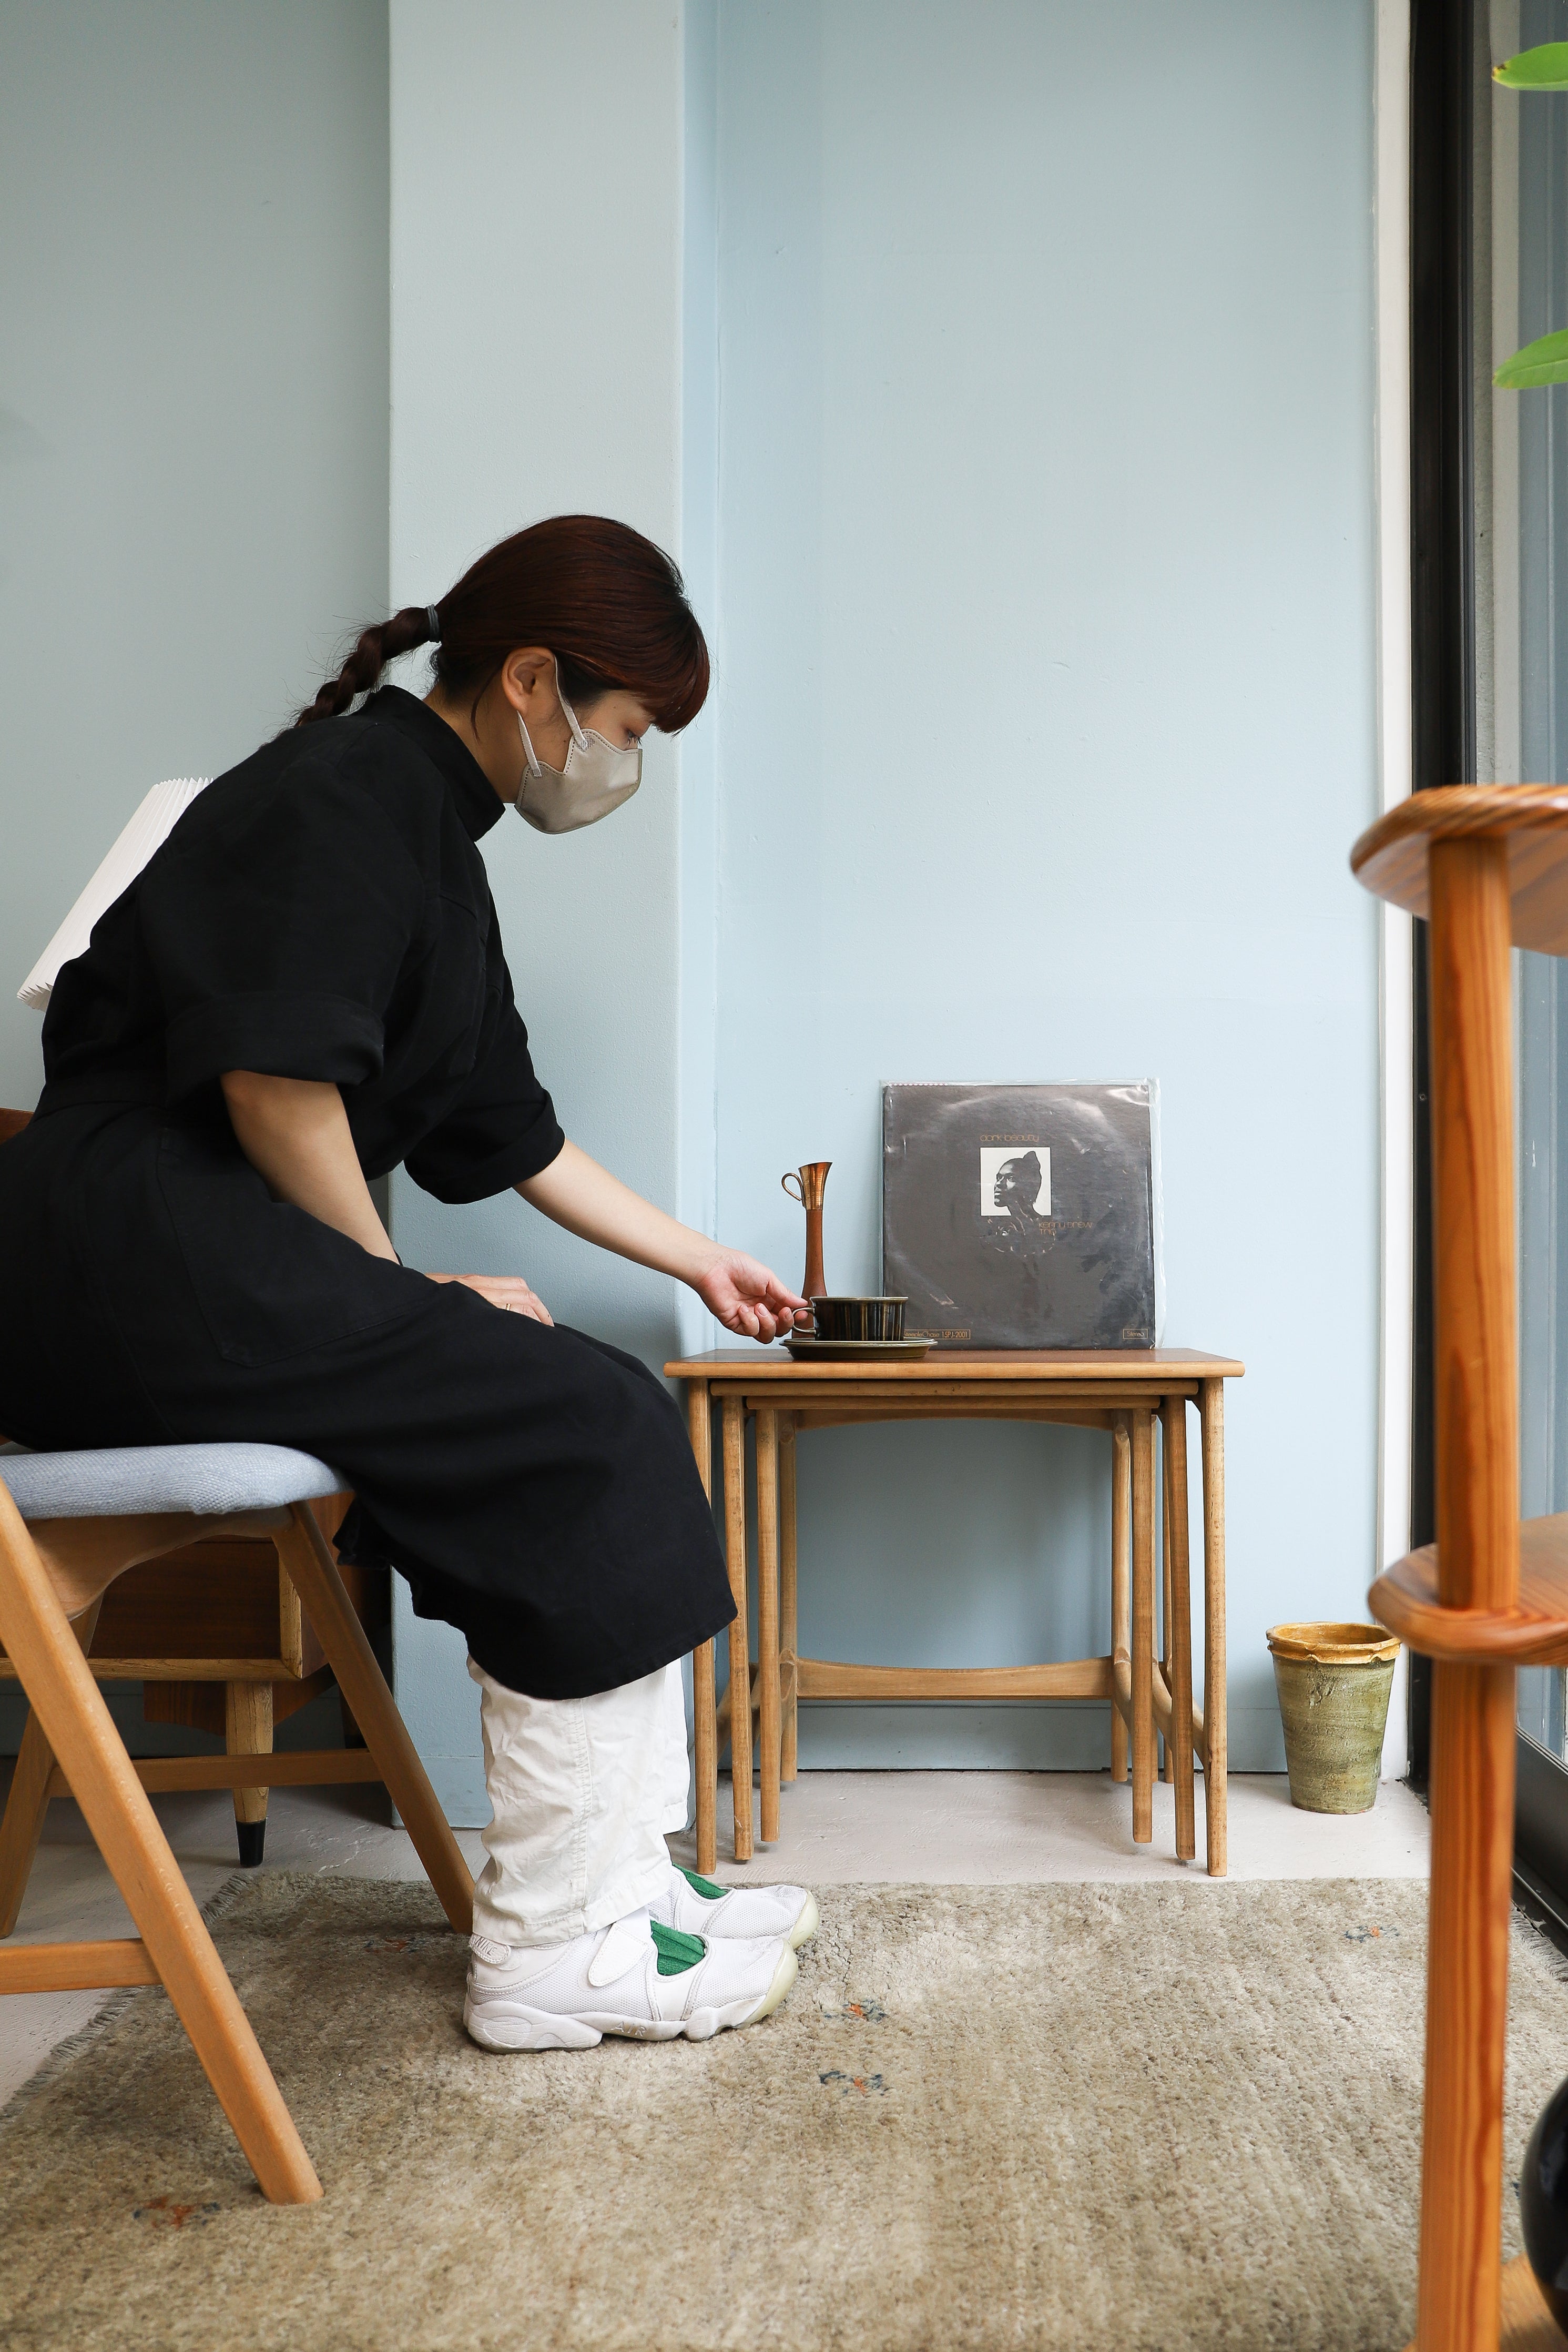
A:
[[[59,1759],[141,1931],[139,1938],[106,1943],[0,1950],[0,1992],[162,1983],[261,2190],[275,2204],[308,2204],[322,2194],[320,2180],[148,1804],[148,1788],[188,1783],[172,1773],[169,1762],[139,1766],[129,1759],[85,1649],[103,1592],[136,1562],[195,1536],[268,1536],[447,1919],[465,1936],[473,1929],[473,1877],[310,1512],[310,1501],[341,1491],[341,1479],[308,1454],[242,1444],[16,1454],[5,1456],[0,1470],[0,1642],[38,1724],[28,1757],[33,1795],[21,1811],[12,1799],[7,1832],[16,1811],[14,1837],[31,1832],[31,1863],[42,1820],[40,1780],[49,1785]],[[179,1762],[209,1776],[214,1771],[209,1757]],[[230,1771],[277,1785],[320,1780],[320,1764],[317,1757],[235,1757]],[[16,1867],[14,1856],[9,1867]]]

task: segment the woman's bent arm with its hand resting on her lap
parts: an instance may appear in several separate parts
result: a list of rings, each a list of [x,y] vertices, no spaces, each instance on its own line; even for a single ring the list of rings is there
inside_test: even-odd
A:
[[[235,1141],[273,1197],[346,1232],[371,1258],[397,1263],[397,1251],[369,1197],[339,1089],[315,1077],[266,1077],[259,1070],[226,1070],[221,1087]],[[430,1275],[428,1279],[463,1282],[494,1308],[550,1322],[529,1284],[515,1277]]]

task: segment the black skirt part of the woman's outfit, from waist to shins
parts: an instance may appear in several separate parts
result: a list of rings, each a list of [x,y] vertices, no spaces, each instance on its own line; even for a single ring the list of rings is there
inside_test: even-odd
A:
[[[226,1120],[87,1105],[0,1145],[0,1430],[320,1456],[357,1496],[346,1557],[397,1566],[534,1698],[635,1682],[733,1616],[642,1362],[367,1256],[275,1202]]]

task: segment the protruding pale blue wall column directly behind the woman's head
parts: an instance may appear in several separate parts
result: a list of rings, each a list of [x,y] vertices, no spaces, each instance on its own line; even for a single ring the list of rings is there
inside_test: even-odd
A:
[[[393,0],[393,602],[440,597],[505,532],[621,515],[679,546],[682,28],[656,0]],[[614,89],[607,61],[614,59]],[[423,656],[407,677],[428,684]],[[614,823],[484,837],[534,1054],[567,1134],[675,1209],[679,750],[651,739]],[[712,1155],[710,1155],[712,1157]],[[409,1265],[524,1272],[557,1319],[663,1364],[675,1284],[512,1192],[404,1176]],[[395,1585],[397,1698],[454,1820],[489,1818],[463,1642]]]

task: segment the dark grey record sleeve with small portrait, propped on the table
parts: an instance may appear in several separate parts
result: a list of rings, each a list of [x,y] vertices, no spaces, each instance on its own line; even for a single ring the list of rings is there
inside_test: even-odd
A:
[[[882,1289],[947,1348],[1157,1343],[1154,1087],[884,1087]]]

